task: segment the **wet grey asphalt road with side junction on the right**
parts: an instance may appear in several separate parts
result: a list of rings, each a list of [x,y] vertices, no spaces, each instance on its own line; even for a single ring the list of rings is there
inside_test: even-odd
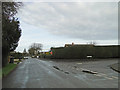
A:
[[[118,73],[109,67],[117,61],[64,62],[29,58],[3,79],[3,88],[118,88]]]

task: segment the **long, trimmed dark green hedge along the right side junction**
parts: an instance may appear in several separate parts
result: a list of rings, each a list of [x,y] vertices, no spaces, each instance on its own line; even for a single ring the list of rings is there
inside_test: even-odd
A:
[[[52,48],[51,58],[58,59],[85,59],[87,56],[93,58],[117,58],[118,46],[93,46],[79,45],[71,47]]]

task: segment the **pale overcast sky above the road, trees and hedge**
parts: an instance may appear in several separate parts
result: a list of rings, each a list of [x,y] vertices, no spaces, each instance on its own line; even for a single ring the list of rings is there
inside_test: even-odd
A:
[[[43,50],[65,44],[118,44],[117,2],[23,2],[17,14],[22,29],[16,51],[32,43]]]

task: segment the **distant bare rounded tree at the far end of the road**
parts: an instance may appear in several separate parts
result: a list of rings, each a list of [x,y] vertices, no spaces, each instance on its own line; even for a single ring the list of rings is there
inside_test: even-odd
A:
[[[40,43],[33,43],[30,48],[28,49],[28,52],[30,55],[37,55],[40,50],[42,50],[43,45]]]

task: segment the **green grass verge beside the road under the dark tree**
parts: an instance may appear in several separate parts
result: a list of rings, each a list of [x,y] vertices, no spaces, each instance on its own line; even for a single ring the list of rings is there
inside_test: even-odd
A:
[[[17,66],[17,64],[8,64],[5,67],[2,68],[2,70],[0,70],[0,78],[7,76],[15,67]]]

